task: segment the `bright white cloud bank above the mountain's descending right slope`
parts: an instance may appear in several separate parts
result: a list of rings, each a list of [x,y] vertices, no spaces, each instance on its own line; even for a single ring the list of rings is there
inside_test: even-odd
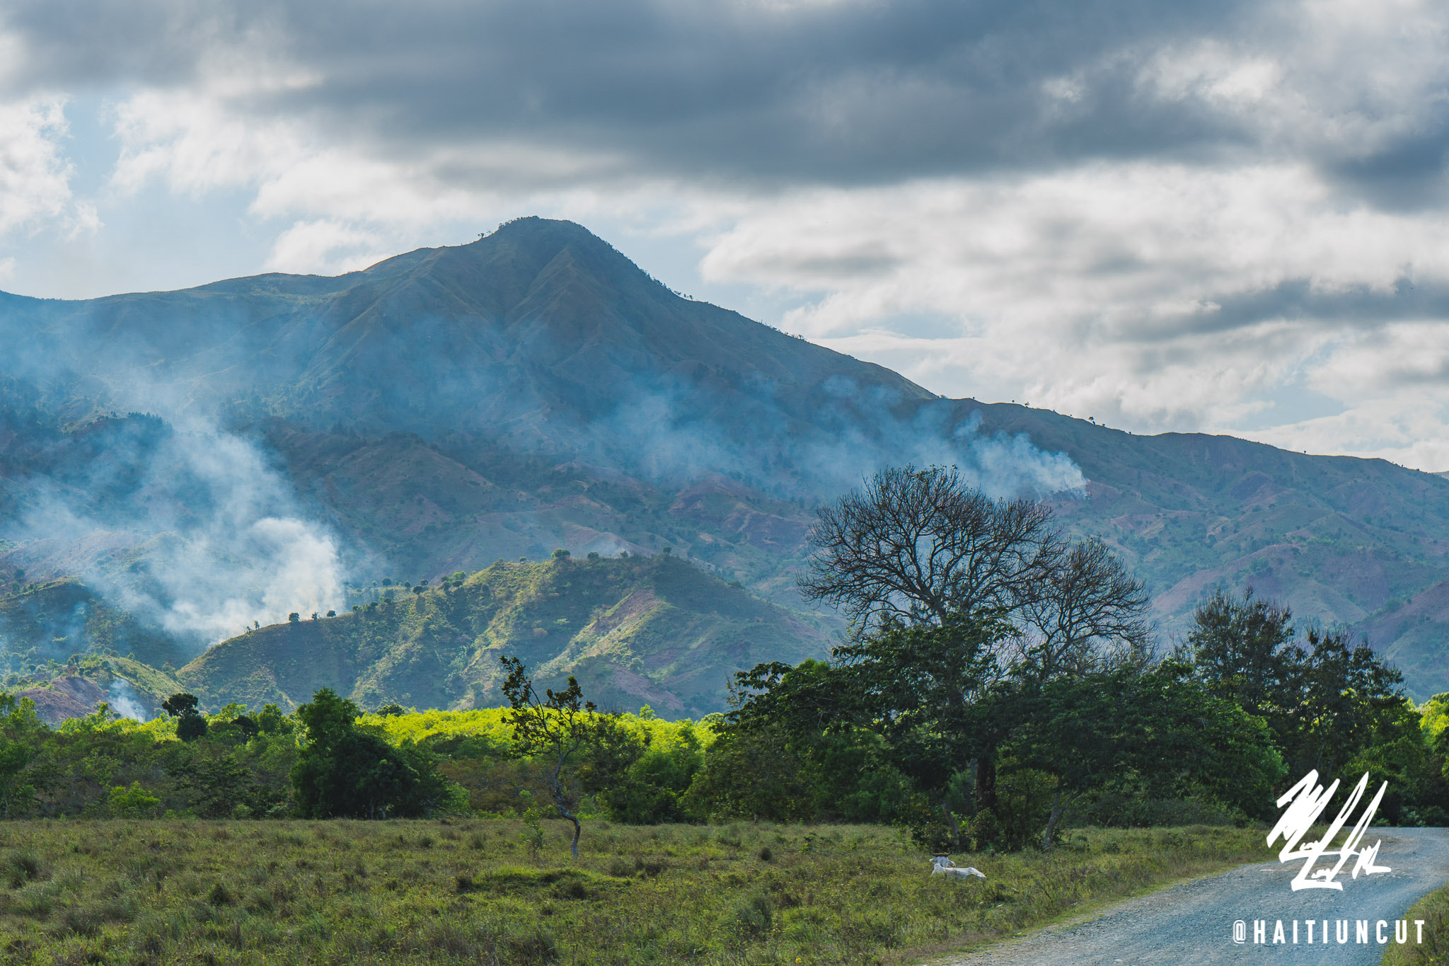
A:
[[[1342,204],[1301,165],[1098,164],[761,203],[703,272],[782,290],[784,327],[951,395],[1233,429],[1294,385],[1352,403],[1449,375],[1446,242],[1449,213]],[[901,330],[920,317],[945,322]]]

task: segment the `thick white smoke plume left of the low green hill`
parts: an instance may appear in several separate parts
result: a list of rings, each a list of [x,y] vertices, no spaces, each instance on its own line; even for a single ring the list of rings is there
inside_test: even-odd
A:
[[[197,646],[254,621],[342,605],[338,542],[306,518],[252,442],[197,421],[167,429],[159,442],[109,446],[84,490],[116,491],[122,478],[123,491],[104,501],[32,481],[35,510],[9,536],[77,546],[97,532],[126,532],[130,553],[120,562],[72,552],[55,572],[78,572],[119,607]]]

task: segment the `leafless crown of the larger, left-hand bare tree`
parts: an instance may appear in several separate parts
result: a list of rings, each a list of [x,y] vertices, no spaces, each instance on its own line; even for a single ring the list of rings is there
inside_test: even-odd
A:
[[[810,545],[801,594],[842,608],[858,633],[1014,610],[1064,552],[1048,507],[993,500],[955,466],[877,472],[820,510]]]

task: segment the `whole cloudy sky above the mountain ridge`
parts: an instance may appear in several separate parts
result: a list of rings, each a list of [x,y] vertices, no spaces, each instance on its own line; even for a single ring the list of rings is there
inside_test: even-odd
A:
[[[1449,6],[0,3],[0,290],[523,214],[951,397],[1449,471]]]

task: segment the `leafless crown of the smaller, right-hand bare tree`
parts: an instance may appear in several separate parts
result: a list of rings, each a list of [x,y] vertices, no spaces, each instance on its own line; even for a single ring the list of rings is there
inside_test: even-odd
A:
[[[1037,592],[1020,602],[1017,672],[1046,681],[1142,666],[1151,658],[1148,594],[1100,537],[1056,558]]]

